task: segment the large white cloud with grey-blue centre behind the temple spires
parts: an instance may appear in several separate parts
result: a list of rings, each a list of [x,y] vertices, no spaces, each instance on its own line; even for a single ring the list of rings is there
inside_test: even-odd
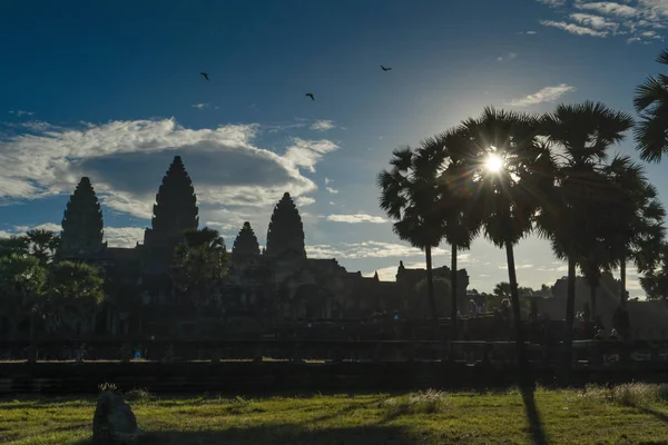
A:
[[[188,129],[174,119],[155,119],[76,128],[45,123],[30,130],[0,137],[0,205],[69,196],[88,176],[107,211],[145,219],[175,155],[181,155],[193,178],[200,209],[265,211],[285,191],[294,198],[315,191],[301,170],[315,171],[338,148],[326,139],[295,138],[285,154],[276,154],[254,145],[262,131],[254,123]]]

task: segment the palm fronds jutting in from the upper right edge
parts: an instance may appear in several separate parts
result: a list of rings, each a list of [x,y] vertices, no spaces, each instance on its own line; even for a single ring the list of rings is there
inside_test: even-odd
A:
[[[657,62],[668,65],[668,50],[659,55]],[[633,106],[640,115],[640,122],[635,130],[640,159],[659,162],[668,152],[668,76],[648,77],[636,88]]]

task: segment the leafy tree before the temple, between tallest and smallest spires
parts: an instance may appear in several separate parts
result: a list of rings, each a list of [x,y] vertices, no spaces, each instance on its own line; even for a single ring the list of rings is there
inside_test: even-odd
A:
[[[229,256],[217,230],[186,230],[184,241],[174,254],[171,277],[176,286],[188,294],[202,316],[210,304],[215,288],[227,275]]]

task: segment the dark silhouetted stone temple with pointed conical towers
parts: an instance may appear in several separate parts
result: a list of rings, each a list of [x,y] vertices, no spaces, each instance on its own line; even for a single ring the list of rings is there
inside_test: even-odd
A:
[[[102,241],[100,205],[89,178],[81,178],[65,210],[61,254],[104,271],[106,299],[95,322],[97,334],[194,332],[193,307],[173,285],[170,263],[183,233],[198,226],[195,189],[179,156],[163,178],[144,243],[134,248]],[[379,313],[413,318],[428,307],[416,290],[424,269],[406,269],[401,263],[396,281],[381,281],[377,274],[347,271],[336,259],[308,258],[299,211],[287,192],[274,208],[264,249],[249,221],[226,244],[232,247],[229,273],[207,310],[209,324],[217,326],[212,334],[268,330],[296,320],[363,319]],[[464,269],[458,274],[458,299],[463,304],[469,277]],[[449,275],[448,267],[434,269],[434,277]]]

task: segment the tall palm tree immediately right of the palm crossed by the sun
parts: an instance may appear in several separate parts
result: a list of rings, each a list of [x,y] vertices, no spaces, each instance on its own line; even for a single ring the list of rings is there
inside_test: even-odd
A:
[[[558,146],[557,186],[549,195],[549,205],[539,218],[539,233],[551,240],[558,258],[568,260],[568,287],[564,323],[567,350],[572,340],[571,322],[574,316],[576,268],[578,260],[586,263],[600,234],[599,210],[609,204],[599,185],[610,147],[623,139],[632,126],[628,113],[609,109],[603,103],[586,101],[579,105],[559,105],[542,119],[541,132],[549,144]],[[601,199],[603,198],[603,199]],[[591,270],[597,265],[586,264]],[[595,279],[592,274],[590,278]]]

